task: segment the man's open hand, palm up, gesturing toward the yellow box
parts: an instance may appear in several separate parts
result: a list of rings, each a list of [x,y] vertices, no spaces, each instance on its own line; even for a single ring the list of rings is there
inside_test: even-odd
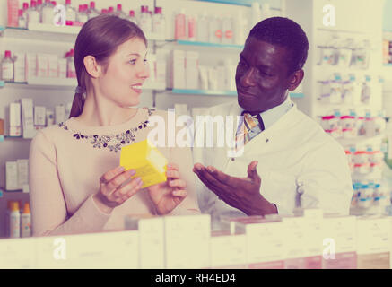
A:
[[[274,204],[270,204],[260,194],[261,178],[257,174],[257,161],[248,165],[248,178],[231,177],[214,167],[205,168],[196,163],[193,171],[213,193],[226,204],[240,209],[248,215],[277,213]]]

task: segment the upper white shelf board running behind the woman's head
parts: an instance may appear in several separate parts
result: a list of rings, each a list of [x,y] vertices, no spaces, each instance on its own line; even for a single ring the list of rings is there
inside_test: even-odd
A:
[[[29,29],[0,26],[6,38],[39,39],[50,41],[74,42],[77,34],[82,29],[78,26],[56,26],[51,24],[30,24]],[[152,41],[172,41],[165,39],[160,34],[147,34],[146,38]]]

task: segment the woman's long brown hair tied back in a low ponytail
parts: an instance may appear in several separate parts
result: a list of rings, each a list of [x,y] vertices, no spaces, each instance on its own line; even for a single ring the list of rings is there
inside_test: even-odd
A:
[[[135,23],[115,15],[101,14],[86,22],[74,45],[74,67],[77,83],[81,88],[76,90],[86,91],[86,84],[90,79],[84,66],[84,57],[93,56],[100,65],[105,67],[108,65],[109,57],[116,52],[118,46],[135,37],[144,40],[147,46],[143,30]],[[85,100],[82,91],[75,92],[69,117],[78,117],[82,114]]]

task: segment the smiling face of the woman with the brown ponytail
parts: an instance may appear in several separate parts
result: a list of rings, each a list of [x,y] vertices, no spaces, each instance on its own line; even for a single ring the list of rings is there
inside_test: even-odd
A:
[[[103,69],[99,77],[100,91],[104,97],[123,108],[138,105],[142,85],[150,76],[146,56],[143,39],[129,39],[118,46],[109,57],[106,71]]]

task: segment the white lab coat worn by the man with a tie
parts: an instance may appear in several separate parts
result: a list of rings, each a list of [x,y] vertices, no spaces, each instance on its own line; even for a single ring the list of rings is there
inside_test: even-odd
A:
[[[206,109],[204,115],[237,117],[240,110],[235,101]],[[236,123],[235,120],[234,135]],[[260,193],[283,215],[292,214],[299,204],[303,208],[321,208],[325,213],[349,213],[353,186],[344,149],[295,104],[273,126],[247,143],[240,157],[229,157],[226,145],[216,146],[217,139],[225,136],[222,133],[214,129],[214,147],[197,147],[195,143],[195,163],[212,165],[234,177],[247,177],[248,164],[258,161]],[[210,213],[213,220],[221,215],[244,215],[218,199],[200,179],[196,178],[196,182],[200,209]]]

